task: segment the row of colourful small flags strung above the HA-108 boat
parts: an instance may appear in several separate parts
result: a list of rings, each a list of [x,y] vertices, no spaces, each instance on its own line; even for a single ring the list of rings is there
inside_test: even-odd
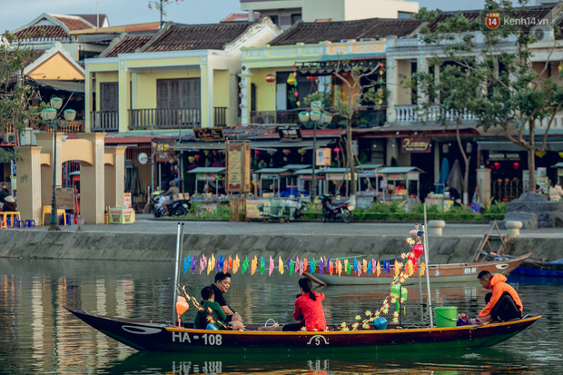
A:
[[[314,258],[311,260],[302,258],[300,260],[299,257],[296,257],[295,260],[291,258],[282,260],[282,257],[279,256],[276,261],[272,258],[272,256],[270,256],[269,261],[266,261],[266,258],[260,257],[259,259],[258,256],[254,256],[252,259],[245,256],[244,259],[241,259],[238,255],[235,255],[234,258],[232,258],[232,256],[224,258],[222,255],[219,255],[219,258],[215,259],[214,254],[212,254],[209,258],[203,254],[199,257],[197,255],[188,255],[185,257],[183,259],[183,274],[186,274],[189,271],[192,271],[192,274],[195,274],[198,270],[199,274],[202,274],[203,271],[210,274],[213,270],[216,273],[221,271],[224,273],[232,271],[233,274],[236,274],[240,270],[241,273],[244,274],[249,271],[250,268],[251,275],[256,273],[256,271],[259,271],[261,275],[267,271],[268,275],[271,276],[273,271],[278,271],[280,274],[283,274],[286,270],[288,270],[290,275],[294,272],[302,275],[304,271],[308,271],[310,274],[318,272],[321,275],[323,273],[328,273],[330,275],[337,274],[341,276],[342,273],[351,275],[353,272],[353,274],[358,276],[361,276],[361,274],[367,274],[380,277],[381,274],[384,276],[390,275],[392,270],[394,272],[394,276],[397,277],[400,275],[400,270],[404,265],[407,274],[412,275],[415,271],[418,271],[419,265],[417,259],[424,251],[424,248],[420,243],[415,244],[414,240],[411,238],[408,238],[407,242],[411,246],[411,252],[409,254],[405,252],[401,254],[401,258],[406,260],[404,264],[403,262],[399,262],[397,260],[394,260],[394,262],[380,262],[373,258],[371,258],[371,260],[367,260],[365,258],[360,260],[357,258],[321,258],[317,261]],[[420,275],[424,275],[425,269],[425,264],[421,263]]]

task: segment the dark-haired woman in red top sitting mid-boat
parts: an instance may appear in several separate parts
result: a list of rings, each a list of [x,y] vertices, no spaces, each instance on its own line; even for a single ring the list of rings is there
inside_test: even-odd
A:
[[[299,323],[286,324],[283,326],[261,327],[260,331],[326,331],[327,322],[324,318],[324,310],[321,301],[324,293],[312,291],[312,282],[303,277],[299,279],[299,294],[295,300],[293,318]]]

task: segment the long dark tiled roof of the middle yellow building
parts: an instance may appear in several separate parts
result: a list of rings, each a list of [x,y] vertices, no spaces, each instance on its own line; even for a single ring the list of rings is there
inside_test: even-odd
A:
[[[340,42],[342,39],[375,38],[388,35],[410,35],[421,24],[410,19],[372,18],[358,21],[297,23],[278,36],[271,45],[296,43],[314,44],[322,41]]]

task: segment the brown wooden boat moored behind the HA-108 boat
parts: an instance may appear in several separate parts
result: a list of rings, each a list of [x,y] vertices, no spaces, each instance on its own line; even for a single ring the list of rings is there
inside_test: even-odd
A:
[[[479,275],[480,271],[509,274],[510,271],[515,270],[520,264],[526,261],[530,255],[531,252],[519,257],[488,262],[452,264],[430,263],[426,271],[428,272],[432,283],[477,281],[477,275]],[[415,271],[411,278],[417,280],[419,277],[419,271]],[[348,275],[345,272],[342,272],[340,276],[336,273],[332,273],[331,275],[326,272],[321,275],[317,268],[317,271],[312,275],[307,271],[303,272],[303,275],[321,285],[389,285],[390,281],[393,279],[394,273],[391,268],[390,273],[381,272],[380,277],[377,277],[375,274],[368,273],[361,273],[360,276],[356,273]]]

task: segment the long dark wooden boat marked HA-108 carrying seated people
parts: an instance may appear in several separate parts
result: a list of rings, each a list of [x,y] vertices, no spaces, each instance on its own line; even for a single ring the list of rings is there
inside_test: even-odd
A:
[[[429,328],[390,325],[387,330],[361,331],[247,331],[196,330],[192,323],[181,327],[165,321],[112,318],[65,307],[77,318],[114,340],[136,350],[183,353],[390,353],[399,350],[442,350],[489,347],[524,331],[541,315],[527,315],[518,321]],[[335,326],[331,330],[335,330]],[[218,357],[219,358],[219,357]]]

